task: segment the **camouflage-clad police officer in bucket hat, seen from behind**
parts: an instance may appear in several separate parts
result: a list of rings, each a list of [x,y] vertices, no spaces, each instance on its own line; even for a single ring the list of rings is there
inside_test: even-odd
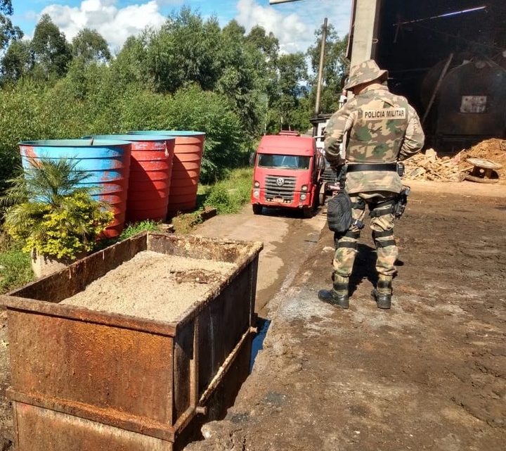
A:
[[[353,223],[344,234],[335,234],[331,290],[318,298],[349,308],[349,277],[369,209],[372,239],[377,250],[377,287],[372,291],[377,307],[390,308],[392,279],[398,250],[394,239],[394,203],[403,189],[396,162],[414,155],[424,144],[424,133],[415,109],[402,96],[391,94],[387,70],[375,61],[353,66],[344,87],[353,99],[330,117],[325,129],[325,158],[332,167],[347,163],[346,191],[351,198]],[[349,132],[346,160],[339,144]]]

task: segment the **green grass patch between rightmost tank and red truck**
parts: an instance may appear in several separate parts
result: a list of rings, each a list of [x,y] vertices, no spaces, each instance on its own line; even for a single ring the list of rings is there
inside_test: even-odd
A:
[[[253,168],[241,167],[211,186],[202,186],[203,205],[216,208],[219,215],[237,213],[249,202]]]

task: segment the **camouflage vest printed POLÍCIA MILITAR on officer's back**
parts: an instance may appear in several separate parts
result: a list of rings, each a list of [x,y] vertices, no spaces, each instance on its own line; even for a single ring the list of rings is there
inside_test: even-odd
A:
[[[356,98],[358,120],[346,147],[352,163],[394,163],[408,128],[408,101],[385,89],[371,89]]]

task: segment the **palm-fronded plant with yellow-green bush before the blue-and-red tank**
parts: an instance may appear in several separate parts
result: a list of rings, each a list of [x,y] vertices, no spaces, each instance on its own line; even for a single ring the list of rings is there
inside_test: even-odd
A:
[[[1,199],[11,205],[5,227],[24,249],[50,258],[74,259],[89,252],[97,236],[112,221],[107,203],[93,200],[91,189],[79,186],[89,174],[79,161],[42,158],[11,179]]]

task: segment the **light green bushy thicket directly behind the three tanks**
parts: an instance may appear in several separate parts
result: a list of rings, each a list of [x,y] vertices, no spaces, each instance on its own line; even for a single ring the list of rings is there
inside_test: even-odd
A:
[[[107,68],[83,68],[54,84],[21,80],[0,90],[0,193],[20,162],[18,141],[79,138],[132,129],[205,132],[200,181],[215,182],[247,155],[249,141],[226,96],[190,86],[175,94],[115,86]]]

